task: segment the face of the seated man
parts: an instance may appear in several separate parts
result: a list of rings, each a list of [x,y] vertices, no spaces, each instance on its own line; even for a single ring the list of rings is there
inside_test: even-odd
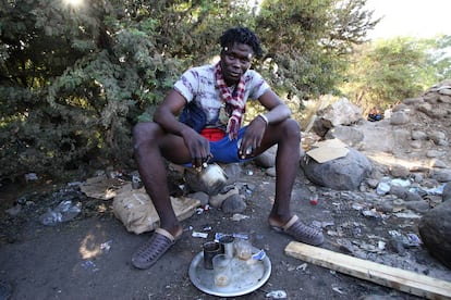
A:
[[[221,51],[221,70],[227,85],[231,86],[249,68],[254,51],[245,43],[234,43]]]

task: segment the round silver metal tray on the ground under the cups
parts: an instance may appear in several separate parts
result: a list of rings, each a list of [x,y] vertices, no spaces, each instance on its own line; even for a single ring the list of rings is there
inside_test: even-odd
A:
[[[259,249],[254,248],[253,253]],[[190,265],[190,279],[199,290],[219,297],[235,297],[249,293],[260,288],[271,275],[271,262],[266,255],[261,261],[249,265],[245,261],[234,258],[233,278],[227,287],[218,287],[214,283],[214,271],[204,267],[204,252],[194,257]]]

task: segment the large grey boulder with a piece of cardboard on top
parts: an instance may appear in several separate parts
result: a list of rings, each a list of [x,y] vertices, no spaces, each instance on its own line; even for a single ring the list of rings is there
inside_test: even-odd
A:
[[[373,170],[369,160],[350,148],[343,158],[318,163],[305,155],[301,166],[305,176],[314,184],[336,190],[355,190]]]

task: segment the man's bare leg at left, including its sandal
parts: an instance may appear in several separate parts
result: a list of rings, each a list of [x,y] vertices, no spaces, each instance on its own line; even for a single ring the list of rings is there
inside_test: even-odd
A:
[[[190,161],[190,157],[183,139],[166,134],[156,123],[137,124],[133,137],[139,175],[160,218],[160,227],[132,255],[135,267],[148,268],[182,235],[182,226],[170,201],[164,159],[180,163]]]

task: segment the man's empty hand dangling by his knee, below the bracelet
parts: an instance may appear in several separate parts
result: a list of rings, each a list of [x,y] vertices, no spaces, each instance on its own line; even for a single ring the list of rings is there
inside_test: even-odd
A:
[[[239,145],[240,159],[255,155],[255,150],[260,147],[267,126],[268,124],[266,121],[259,115],[251,122],[244,133],[241,143]]]

